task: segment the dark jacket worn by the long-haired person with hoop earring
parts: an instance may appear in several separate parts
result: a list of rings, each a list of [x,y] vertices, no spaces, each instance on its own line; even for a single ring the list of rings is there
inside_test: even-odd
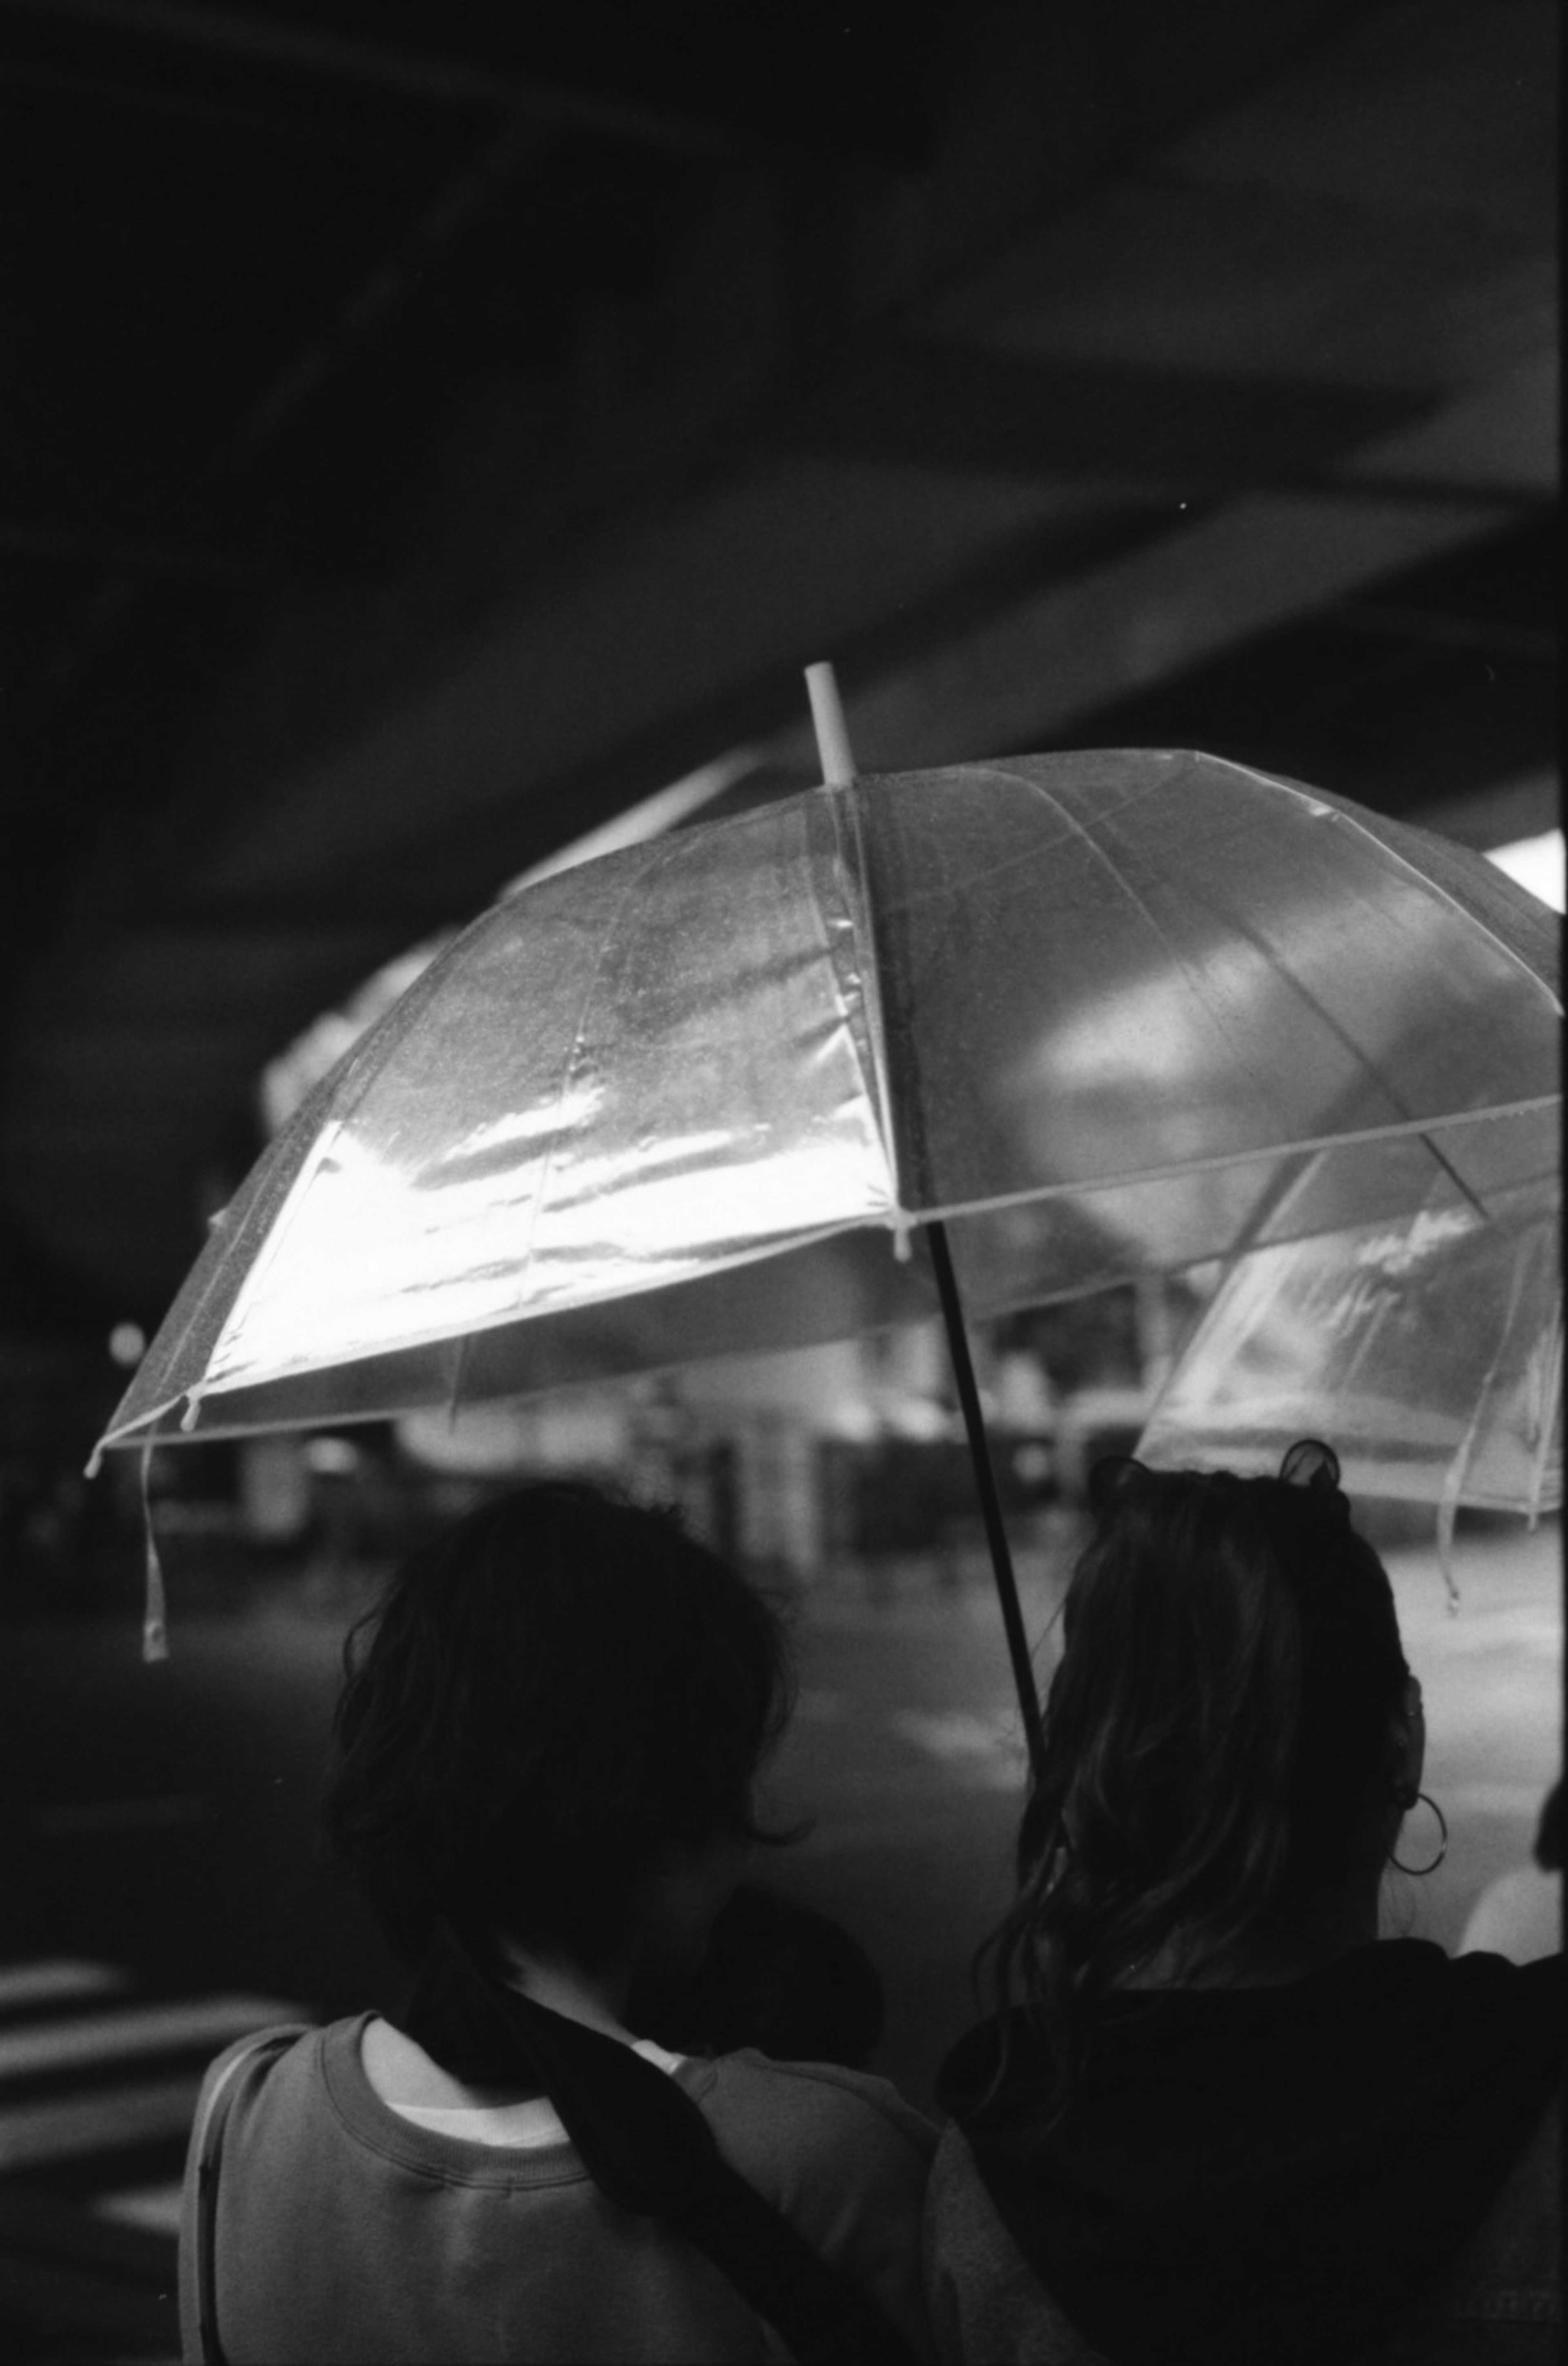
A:
[[[1424,1940],[1287,1987],[1123,1995],[1055,2122],[1034,2023],[984,2023],[939,2084],[944,2354],[1556,2359],[1563,2002],[1561,1957]]]

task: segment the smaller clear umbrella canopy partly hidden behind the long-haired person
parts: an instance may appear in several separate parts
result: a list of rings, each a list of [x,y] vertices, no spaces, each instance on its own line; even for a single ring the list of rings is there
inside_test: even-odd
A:
[[[1322,1436],[1350,1493],[1535,1519],[1563,1500],[1561,1386],[1559,1195],[1514,1192],[1244,1256],[1138,1453],[1275,1472]]]

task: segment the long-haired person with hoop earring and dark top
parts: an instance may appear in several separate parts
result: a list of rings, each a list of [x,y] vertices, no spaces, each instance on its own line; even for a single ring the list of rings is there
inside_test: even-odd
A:
[[[1445,1834],[1331,1450],[1102,1465],[1090,1502],[996,2009],[937,2089],[939,2352],[1554,2359],[1563,1959],[1379,1938]]]

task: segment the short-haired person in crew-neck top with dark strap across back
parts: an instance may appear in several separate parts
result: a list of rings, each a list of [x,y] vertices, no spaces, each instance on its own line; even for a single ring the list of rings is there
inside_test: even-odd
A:
[[[655,2089],[634,2146],[655,2200],[665,2134],[674,2186],[700,2115],[885,2354],[929,2357],[934,2129],[880,2077],[676,2054],[629,2018],[636,1990],[679,1995],[780,1838],[754,1784],[788,1711],[773,1607],[672,1514],[546,1481],[404,1562],[345,1649],[326,1829],[419,1978],[400,2013],[263,2032],[208,2073],[187,2359],[795,2354],[683,2224],[605,2186],[603,2115],[572,2120],[598,2165],[568,2136],[584,2092],[617,2110],[627,2080]],[[669,2087],[693,2106],[674,2129]]]

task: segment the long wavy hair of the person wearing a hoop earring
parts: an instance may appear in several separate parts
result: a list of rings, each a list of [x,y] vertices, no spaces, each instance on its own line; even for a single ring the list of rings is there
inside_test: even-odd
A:
[[[1100,1465],[1090,1507],[1019,1890],[981,1950],[1038,2023],[1057,2113],[1119,1978],[1268,1952],[1374,1845],[1410,1675],[1327,1446],[1277,1479]]]

